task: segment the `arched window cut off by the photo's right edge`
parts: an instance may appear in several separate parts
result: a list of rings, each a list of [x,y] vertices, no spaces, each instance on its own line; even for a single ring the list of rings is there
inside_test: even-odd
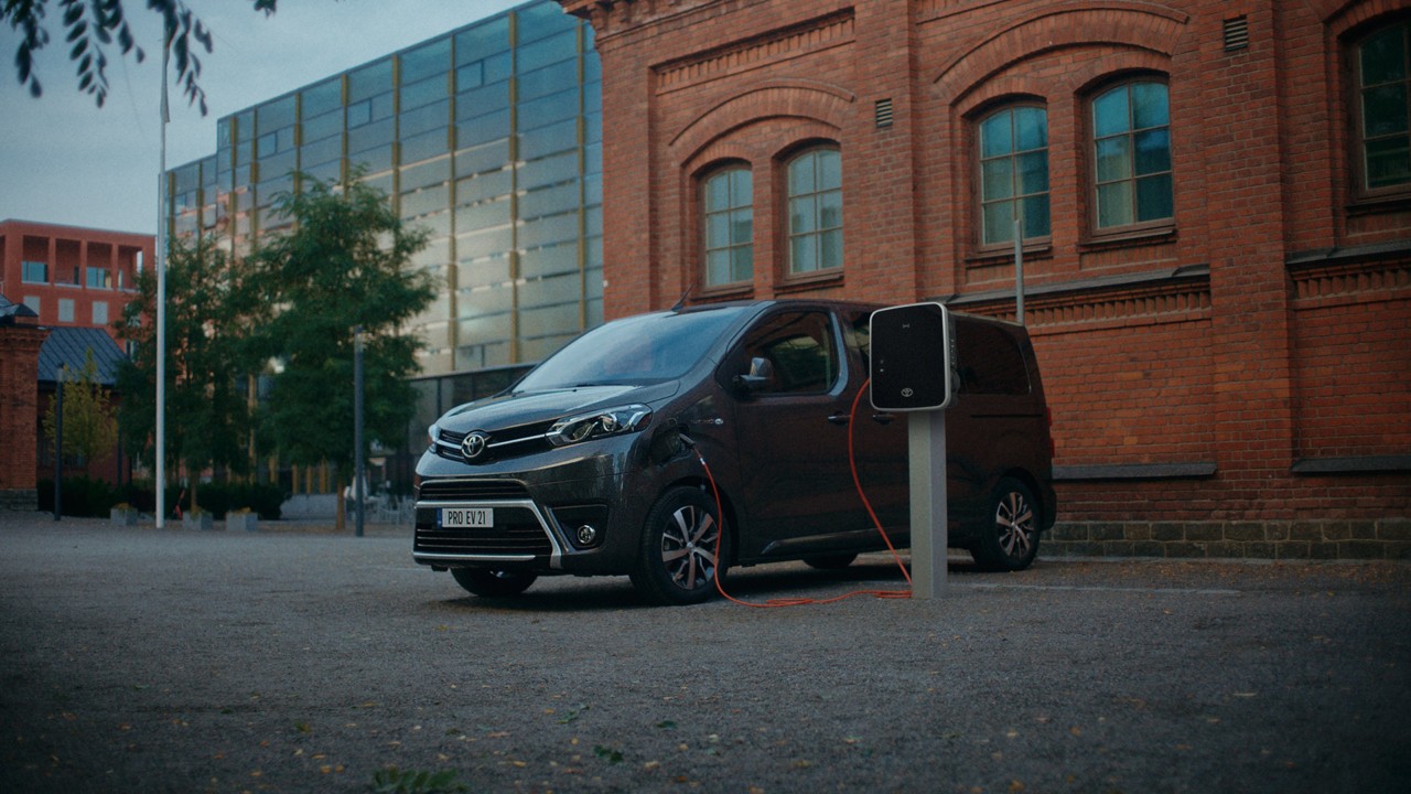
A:
[[[1411,188],[1411,20],[1383,25],[1353,51],[1357,177],[1363,192]]]

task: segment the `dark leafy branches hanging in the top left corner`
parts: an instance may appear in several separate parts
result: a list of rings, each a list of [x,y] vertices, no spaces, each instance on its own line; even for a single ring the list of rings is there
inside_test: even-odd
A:
[[[254,10],[270,16],[278,0],[248,0]],[[107,99],[107,57],[116,47],[120,57],[143,62],[147,54],[137,45],[123,11],[123,0],[3,0],[0,20],[20,34],[14,51],[16,73],[31,96],[44,88],[35,69],[35,55],[49,45],[48,11],[59,16],[59,34],[73,62],[79,90],[93,96],[99,107]],[[212,51],[212,35],[182,0],[147,0],[147,10],[162,16],[166,42],[176,66],[176,82],[186,102],[206,114],[206,92],[200,83],[200,58],[196,49]]]

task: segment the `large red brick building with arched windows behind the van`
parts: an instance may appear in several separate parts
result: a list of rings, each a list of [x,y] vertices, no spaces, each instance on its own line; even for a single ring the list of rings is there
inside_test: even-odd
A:
[[[1411,557],[1411,3],[560,0],[604,307],[1026,322],[1050,550]]]

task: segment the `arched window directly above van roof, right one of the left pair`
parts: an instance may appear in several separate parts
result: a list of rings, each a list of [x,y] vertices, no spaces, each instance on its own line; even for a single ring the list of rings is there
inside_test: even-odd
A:
[[[787,274],[842,268],[842,155],[835,146],[794,154],[785,165]]]

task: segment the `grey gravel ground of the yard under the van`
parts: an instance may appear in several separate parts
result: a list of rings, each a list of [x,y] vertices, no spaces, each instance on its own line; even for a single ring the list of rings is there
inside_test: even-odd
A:
[[[0,513],[0,791],[1411,790],[1411,565],[948,579],[787,609],[646,608],[625,578],[487,600],[415,565],[408,528]],[[729,585],[906,588],[885,557]]]

